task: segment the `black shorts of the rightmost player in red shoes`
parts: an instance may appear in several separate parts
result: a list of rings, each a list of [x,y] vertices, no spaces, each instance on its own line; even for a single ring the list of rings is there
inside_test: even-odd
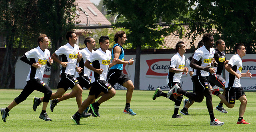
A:
[[[226,89],[226,100],[230,104],[234,104],[236,100],[238,100],[240,97],[244,96],[244,89],[242,87],[234,88],[234,87],[227,87]]]

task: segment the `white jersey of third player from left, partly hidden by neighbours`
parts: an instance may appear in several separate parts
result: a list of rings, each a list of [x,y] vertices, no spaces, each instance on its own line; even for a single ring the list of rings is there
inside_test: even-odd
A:
[[[92,53],[93,52],[94,52],[94,50],[92,50]],[[80,65],[80,62],[79,62],[79,67],[83,68],[82,73],[84,73],[83,74],[84,76],[90,76],[91,70],[88,69],[87,67],[84,67],[84,63],[85,63],[86,59],[88,59],[91,56],[92,53],[89,51],[89,49],[87,47],[84,48],[84,49],[79,50],[79,53],[81,53],[83,55],[83,59],[82,59],[83,63],[81,63],[81,65]],[[76,72],[75,77],[79,77],[79,76],[80,75]]]

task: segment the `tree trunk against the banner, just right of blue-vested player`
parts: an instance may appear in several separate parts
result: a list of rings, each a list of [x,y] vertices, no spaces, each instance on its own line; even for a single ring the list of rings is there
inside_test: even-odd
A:
[[[136,47],[136,57],[135,57],[135,74],[134,74],[134,89],[140,90],[140,53],[141,47]]]

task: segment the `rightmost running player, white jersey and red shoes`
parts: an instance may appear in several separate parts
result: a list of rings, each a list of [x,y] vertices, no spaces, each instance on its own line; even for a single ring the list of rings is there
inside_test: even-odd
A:
[[[246,73],[242,73],[242,57],[245,56],[246,49],[244,44],[238,43],[235,45],[236,54],[233,55],[228,64],[225,65],[225,69],[229,72],[228,80],[226,81],[226,94],[221,95],[218,91],[219,89],[212,90],[212,94],[218,96],[221,101],[228,107],[233,108],[236,100],[241,102],[239,107],[239,117],[237,124],[250,124],[246,122],[244,117],[244,112],[246,109],[247,99],[244,93],[244,89],[241,87],[240,78],[241,77],[252,77],[252,74],[249,73],[249,70]]]

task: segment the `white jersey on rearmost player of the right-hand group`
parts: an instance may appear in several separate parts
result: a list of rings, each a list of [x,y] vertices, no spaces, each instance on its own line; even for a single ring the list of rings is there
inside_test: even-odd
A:
[[[176,53],[170,61],[170,68],[184,69],[184,66],[185,66],[185,56],[182,55],[181,57],[179,53]],[[182,73],[183,72],[180,72],[180,73],[168,72],[166,83],[167,84],[171,82],[180,83]]]

